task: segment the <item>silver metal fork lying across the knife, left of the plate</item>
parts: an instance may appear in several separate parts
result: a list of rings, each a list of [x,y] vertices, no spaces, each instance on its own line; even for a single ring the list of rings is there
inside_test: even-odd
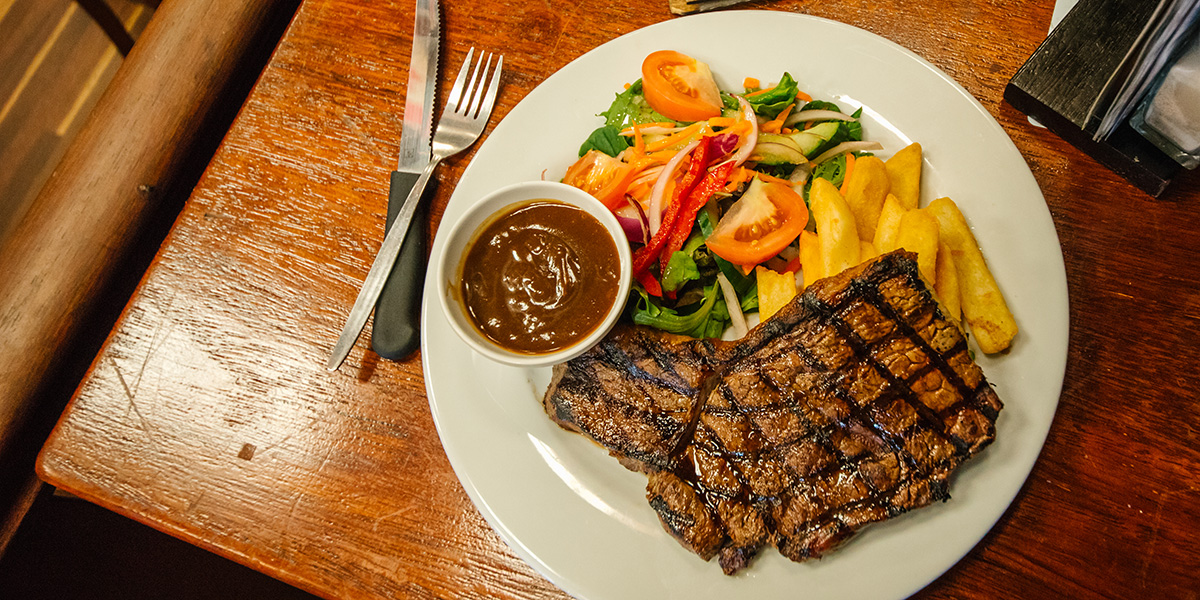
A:
[[[413,190],[408,192],[408,198],[404,199],[400,214],[396,215],[396,221],[388,230],[388,235],[384,236],[383,245],[379,246],[379,253],[376,254],[374,262],[371,263],[371,271],[367,272],[367,278],[362,282],[359,298],[354,300],[350,316],[346,318],[346,326],[342,328],[342,335],[337,338],[337,343],[334,346],[332,353],[330,353],[329,362],[325,365],[330,371],[336,371],[337,367],[342,366],[346,355],[350,353],[350,348],[358,341],[362,328],[366,326],[367,317],[371,316],[376,300],[379,299],[379,293],[383,290],[383,284],[388,281],[388,274],[391,272],[392,265],[396,264],[400,247],[404,242],[404,234],[408,233],[408,224],[413,221],[416,204],[421,200],[421,193],[425,191],[433,169],[443,160],[474,144],[479,139],[479,134],[484,132],[484,127],[492,115],[496,92],[500,86],[500,67],[504,66],[504,56],[496,58],[496,68],[492,70],[492,77],[487,80],[487,88],[484,89],[482,83],[488,68],[492,66],[492,58],[494,55],[487,53],[485,56],[485,53],[480,53],[479,61],[472,68],[470,59],[474,54],[474,48],[467,52],[467,60],[462,62],[458,77],[455,78],[454,88],[450,90],[446,107],[442,110],[442,118],[438,119],[438,128],[433,131],[430,163],[416,179]]]

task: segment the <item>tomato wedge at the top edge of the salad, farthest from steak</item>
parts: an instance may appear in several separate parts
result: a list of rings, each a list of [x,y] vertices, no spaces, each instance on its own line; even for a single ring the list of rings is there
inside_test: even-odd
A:
[[[708,65],[674,50],[650,53],[642,61],[642,92],[650,108],[676,121],[721,115],[721,92]]]

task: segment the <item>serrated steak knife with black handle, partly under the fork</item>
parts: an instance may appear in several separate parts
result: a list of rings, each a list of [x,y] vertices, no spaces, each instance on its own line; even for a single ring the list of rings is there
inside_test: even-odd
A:
[[[413,184],[416,182],[421,170],[430,162],[439,36],[440,23],[437,0],[416,0],[413,55],[408,67],[404,121],[400,136],[400,161],[396,170],[391,173],[388,190],[385,233],[396,220]],[[371,348],[385,359],[403,359],[420,346],[419,323],[421,294],[425,286],[427,215],[428,206],[424,202],[419,202],[413,221],[408,226],[408,234],[401,245],[396,266],[384,283],[379,300],[376,302]]]

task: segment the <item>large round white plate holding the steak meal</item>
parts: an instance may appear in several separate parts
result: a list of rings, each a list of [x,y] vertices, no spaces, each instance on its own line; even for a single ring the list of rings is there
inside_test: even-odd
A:
[[[558,179],[601,124],[595,114],[638,77],[653,50],[708,62],[722,89],[784,71],[816,98],[864,107],[868,139],[887,157],[924,148],[923,202],[954,198],[989,258],[1021,332],[979,362],[1006,403],[996,442],[954,478],[953,498],[866,527],[839,551],[804,564],[764,548],[727,577],[680,547],[644,499],[646,478],[542,413],[548,370],[504,367],[473,354],[425,289],[421,348],[430,407],[455,473],[500,536],[576,598],[905,598],[958,562],[1016,496],[1054,418],[1067,359],[1062,251],[1021,155],[961,86],[874,34],[802,14],[744,11],[678,18],[580,56],[499,122],[463,173],[443,217],[522,180]],[[443,227],[443,229],[446,229]],[[434,256],[443,244],[438,235]]]

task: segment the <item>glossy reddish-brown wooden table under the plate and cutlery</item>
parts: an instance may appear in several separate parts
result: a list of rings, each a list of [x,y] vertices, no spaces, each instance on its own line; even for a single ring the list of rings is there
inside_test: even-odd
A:
[[[988,108],[1057,226],[1057,418],[992,532],[920,598],[1195,598],[1200,179],[1160,200],[1002,102],[1052,2],[781,0],[925,58]],[[493,122],[662,0],[443,2],[443,70],[502,49]],[[564,598],[488,528],[434,432],[420,356],[326,353],[382,238],[407,1],[308,0],[48,440],[47,481],[328,598]],[[449,89],[443,82],[439,97]],[[438,172],[437,227],[473,151]]]

